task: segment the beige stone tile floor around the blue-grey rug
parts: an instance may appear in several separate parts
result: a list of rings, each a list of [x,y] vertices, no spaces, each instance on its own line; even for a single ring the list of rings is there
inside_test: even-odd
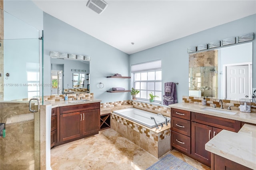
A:
[[[198,170],[210,170],[176,150],[170,153]],[[145,170],[157,161],[111,128],[51,150],[52,170]]]

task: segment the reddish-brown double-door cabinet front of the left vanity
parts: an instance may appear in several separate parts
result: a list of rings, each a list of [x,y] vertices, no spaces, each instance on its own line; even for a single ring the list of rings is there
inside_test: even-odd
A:
[[[99,133],[100,103],[60,107],[58,145]]]

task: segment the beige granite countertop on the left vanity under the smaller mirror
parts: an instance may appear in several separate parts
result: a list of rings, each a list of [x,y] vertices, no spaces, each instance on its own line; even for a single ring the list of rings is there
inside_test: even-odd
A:
[[[84,100],[84,99],[82,99]],[[55,101],[55,102],[49,102],[49,101],[44,101],[44,105],[52,105],[52,108],[55,107],[61,107],[61,106],[69,106],[69,105],[81,105],[81,104],[86,104],[86,103],[96,103],[96,102],[101,102],[100,99],[86,99],[86,101],[80,101],[80,100],[68,100],[68,101]]]

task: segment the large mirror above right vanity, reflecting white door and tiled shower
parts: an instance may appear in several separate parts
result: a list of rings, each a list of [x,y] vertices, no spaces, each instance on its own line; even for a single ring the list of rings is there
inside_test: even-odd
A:
[[[252,42],[189,54],[189,96],[252,97]]]

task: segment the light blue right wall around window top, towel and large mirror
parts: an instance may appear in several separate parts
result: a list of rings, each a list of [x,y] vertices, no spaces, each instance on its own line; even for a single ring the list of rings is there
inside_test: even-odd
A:
[[[178,82],[178,102],[182,102],[182,96],[188,96],[187,48],[250,32],[254,32],[252,63],[253,73],[256,73],[256,14],[131,54],[129,67],[136,63],[162,59],[162,91],[164,82]],[[256,74],[253,74],[253,87],[256,87]]]

